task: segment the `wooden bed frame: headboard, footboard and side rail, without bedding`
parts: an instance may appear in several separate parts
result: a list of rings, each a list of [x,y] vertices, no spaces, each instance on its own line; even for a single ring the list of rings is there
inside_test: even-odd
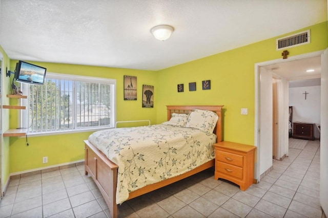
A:
[[[208,110],[215,112],[219,119],[217,121],[214,133],[217,136],[217,142],[222,141],[222,106],[167,106],[168,120],[171,119],[172,113],[177,114],[189,114],[194,109]],[[118,166],[111,162],[100,150],[98,150],[91,142],[84,140],[85,142],[85,173],[90,174],[96,185],[98,186],[101,194],[108,205],[111,216],[117,216],[116,205],[116,184],[117,184],[117,170]],[[129,193],[129,199],[138,197],[142,194],[156,190],[158,188],[167,186],[179,180],[185,179],[194,175],[202,170],[208,169],[215,165],[215,160],[211,160],[197,168],[183,173],[177,177],[173,177],[161,182],[157,182],[140,189],[137,189]],[[129,200],[128,199],[128,200]]]

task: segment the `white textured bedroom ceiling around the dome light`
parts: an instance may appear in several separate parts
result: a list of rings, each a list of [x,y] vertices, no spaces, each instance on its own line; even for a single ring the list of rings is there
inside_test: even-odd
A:
[[[160,70],[327,20],[326,0],[0,0],[11,59]],[[156,40],[150,29],[174,27]]]

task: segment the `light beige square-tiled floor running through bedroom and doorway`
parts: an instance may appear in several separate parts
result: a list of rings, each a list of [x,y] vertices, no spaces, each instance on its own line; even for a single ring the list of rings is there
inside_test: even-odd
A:
[[[246,191],[215,181],[213,169],[119,206],[119,217],[322,217],[319,141],[290,148],[273,170]],[[108,217],[109,210],[84,166],[11,180],[0,217]]]

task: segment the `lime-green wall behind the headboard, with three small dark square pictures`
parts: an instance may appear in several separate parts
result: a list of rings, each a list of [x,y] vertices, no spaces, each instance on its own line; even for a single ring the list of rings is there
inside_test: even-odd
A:
[[[311,43],[289,48],[290,56],[327,48],[326,22],[302,30],[307,29],[311,30]],[[158,122],[166,119],[165,105],[224,105],[223,139],[254,145],[254,66],[282,58],[282,51],[275,48],[278,37],[159,71]],[[211,90],[201,89],[202,80],[211,80]],[[196,82],[196,91],[189,92],[189,82]],[[177,92],[180,83],[185,86],[183,93]],[[248,108],[248,115],[241,115],[241,108]]]

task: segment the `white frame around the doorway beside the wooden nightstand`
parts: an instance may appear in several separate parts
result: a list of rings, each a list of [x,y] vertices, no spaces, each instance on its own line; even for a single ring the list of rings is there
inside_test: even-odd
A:
[[[309,57],[314,57],[314,56],[320,56],[323,53],[323,50],[321,51],[316,51],[316,52],[311,52],[311,53],[306,53],[306,54],[301,54],[301,55],[295,55],[288,57],[287,59],[274,59],[274,60],[269,60],[269,61],[264,61],[264,62],[259,62],[255,63],[255,119],[254,119],[254,145],[257,146],[257,162],[256,162],[256,172],[255,172],[255,179],[257,182],[260,181],[260,145],[259,145],[259,131],[260,131],[260,67],[262,66],[267,66],[270,64],[275,64],[275,63],[283,63],[283,62],[288,62],[292,60],[298,60],[298,59],[303,59],[303,58],[309,58]],[[279,145],[278,145],[279,146]]]

